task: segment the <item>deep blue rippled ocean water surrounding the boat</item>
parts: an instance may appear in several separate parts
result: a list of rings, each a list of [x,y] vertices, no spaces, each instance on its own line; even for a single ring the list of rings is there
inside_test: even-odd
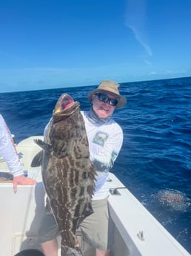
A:
[[[88,110],[95,86],[0,93],[16,142],[42,135],[61,93]],[[191,77],[121,84],[127,105],[115,111],[124,144],[113,173],[191,253]]]

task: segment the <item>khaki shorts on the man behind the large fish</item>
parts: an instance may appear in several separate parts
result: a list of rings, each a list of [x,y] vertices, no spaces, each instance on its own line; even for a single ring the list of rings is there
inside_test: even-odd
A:
[[[79,230],[84,241],[101,251],[111,249],[113,246],[114,224],[109,218],[107,198],[104,200],[93,200],[94,213],[86,217],[81,223]],[[44,215],[38,230],[38,243],[53,240],[59,234],[58,226],[53,214]]]

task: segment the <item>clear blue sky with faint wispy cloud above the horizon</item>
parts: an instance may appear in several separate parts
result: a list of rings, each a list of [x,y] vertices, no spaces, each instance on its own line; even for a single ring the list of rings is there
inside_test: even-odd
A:
[[[6,0],[0,92],[191,76],[190,0]]]

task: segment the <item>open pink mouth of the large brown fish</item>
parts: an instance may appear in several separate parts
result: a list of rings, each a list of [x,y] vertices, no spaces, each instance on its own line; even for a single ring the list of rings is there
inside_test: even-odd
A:
[[[75,102],[69,94],[63,93],[59,97],[53,112],[54,114],[64,114],[70,112],[70,110],[76,110],[78,106],[79,102]]]

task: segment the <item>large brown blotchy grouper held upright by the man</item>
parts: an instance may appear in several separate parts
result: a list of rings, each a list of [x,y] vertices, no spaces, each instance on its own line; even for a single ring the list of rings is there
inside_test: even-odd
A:
[[[90,161],[89,145],[79,102],[64,93],[58,99],[47,125],[43,150],[31,166],[41,164],[42,180],[61,233],[61,256],[82,255],[76,229],[93,213],[91,200],[96,171]]]

